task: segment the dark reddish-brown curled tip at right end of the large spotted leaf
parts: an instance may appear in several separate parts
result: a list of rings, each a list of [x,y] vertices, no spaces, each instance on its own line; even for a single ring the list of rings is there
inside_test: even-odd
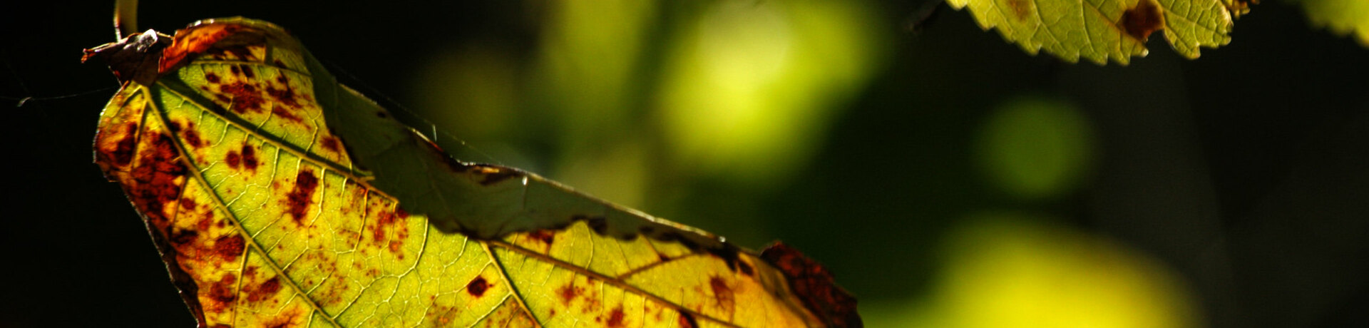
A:
[[[789,287],[828,327],[865,327],[856,313],[856,298],[838,287],[832,273],[798,249],[775,242],[761,251],[765,260],[789,279]]]

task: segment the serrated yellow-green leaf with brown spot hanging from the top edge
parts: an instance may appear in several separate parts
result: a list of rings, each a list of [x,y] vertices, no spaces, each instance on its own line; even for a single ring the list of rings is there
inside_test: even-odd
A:
[[[984,30],[998,27],[1003,38],[1028,53],[1046,49],[1069,62],[1086,57],[1127,64],[1146,56],[1146,40],[1164,31],[1179,55],[1198,57],[1198,46],[1231,41],[1232,11],[1244,0],[946,0],[969,7]],[[1238,7],[1242,5],[1242,7]],[[1239,11],[1238,11],[1239,12]]]

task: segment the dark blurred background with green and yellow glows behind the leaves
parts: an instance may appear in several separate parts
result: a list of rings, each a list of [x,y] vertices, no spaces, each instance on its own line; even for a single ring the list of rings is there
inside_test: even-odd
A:
[[[1369,327],[1369,48],[1264,1],[1201,59],[1155,34],[1099,67],[932,7],[142,1],[140,26],[275,22],[461,160],[797,246],[871,327]],[[92,164],[116,82],[79,57],[112,1],[0,12],[0,327],[193,325]]]

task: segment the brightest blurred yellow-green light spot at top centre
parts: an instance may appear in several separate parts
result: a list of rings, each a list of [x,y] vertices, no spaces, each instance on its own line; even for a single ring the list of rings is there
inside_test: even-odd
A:
[[[720,1],[667,55],[660,107],[680,161],[750,182],[783,178],[878,66],[862,1]]]

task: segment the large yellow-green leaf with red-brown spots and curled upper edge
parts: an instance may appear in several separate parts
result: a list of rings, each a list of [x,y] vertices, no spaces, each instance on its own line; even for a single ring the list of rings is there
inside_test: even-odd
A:
[[[460,163],[281,27],[203,20],[88,52],[125,81],[96,161],[200,327],[858,327],[797,250],[761,254]]]

